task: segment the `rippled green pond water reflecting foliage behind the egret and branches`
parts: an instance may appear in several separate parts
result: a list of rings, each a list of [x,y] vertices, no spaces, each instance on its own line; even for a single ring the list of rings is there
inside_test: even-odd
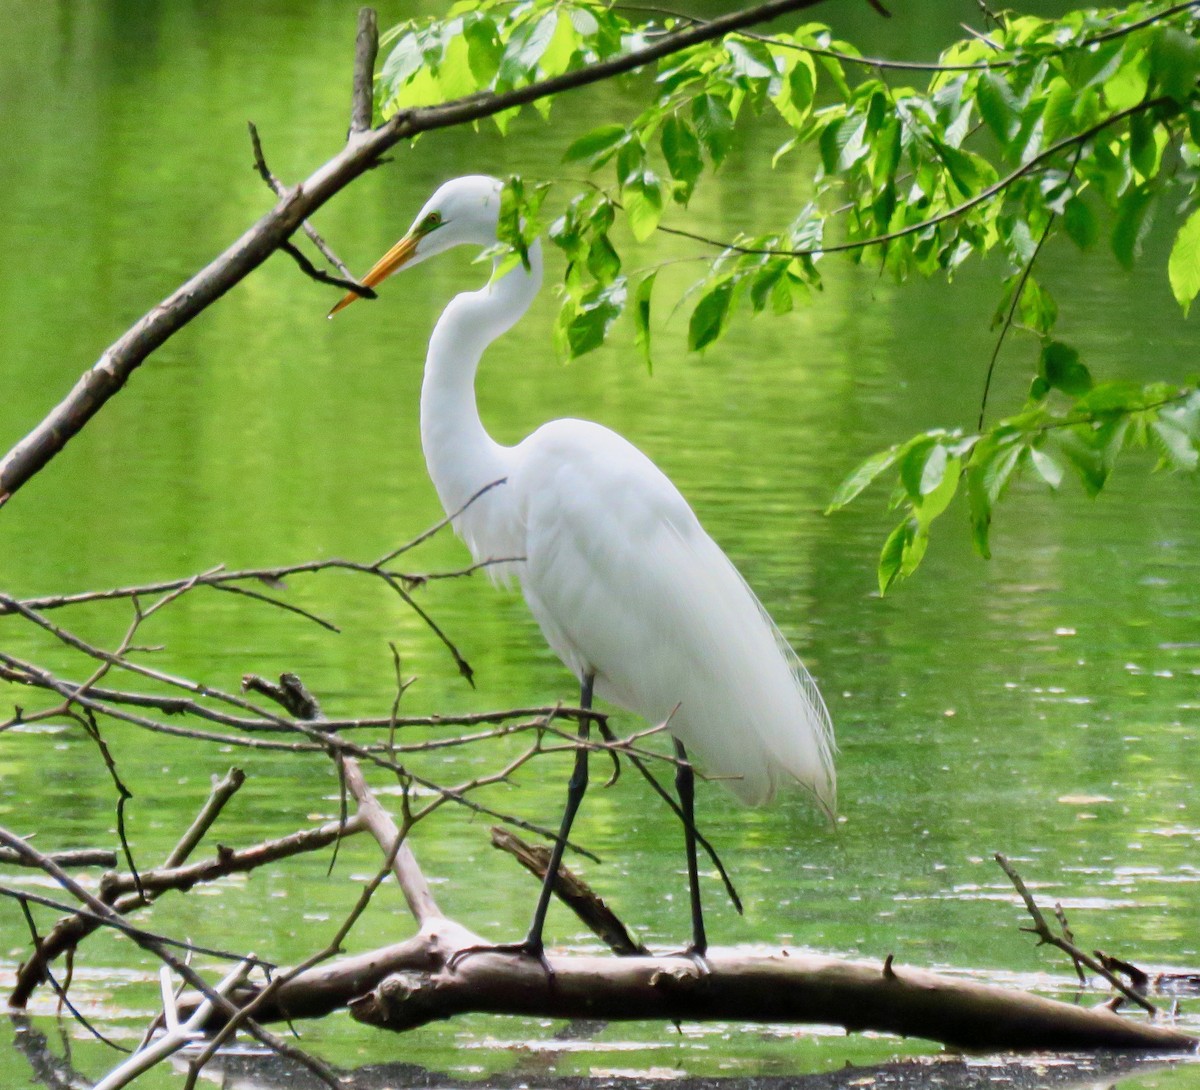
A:
[[[251,169],[247,119],[284,179],[304,176],[337,150],[354,8],[0,0],[0,448],[269,206]],[[830,6],[829,17],[845,8]],[[382,22],[410,11],[385,5]],[[971,13],[943,5],[938,16],[946,18],[926,34],[952,30]],[[872,48],[896,44],[872,23],[863,30]],[[911,55],[932,52],[911,24],[898,41]],[[530,119],[508,140],[485,127],[401,148],[318,224],[361,269],[440,180],[479,170],[560,176],[571,134],[628,116],[634,101],[630,89],[581,94],[550,128]],[[803,191],[805,167],[769,172],[778,136],[744,132],[720,182],[674,222],[716,235],[781,222]],[[1104,252],[1060,246],[1044,256],[1040,274],[1060,298],[1062,335],[1093,371],[1180,379],[1195,372],[1195,336],[1165,281],[1168,238],[1150,240],[1132,277]],[[629,260],[637,268],[698,252],[655,238],[631,247]],[[551,276],[557,271],[552,262]],[[688,272],[686,264],[664,270],[664,299],[678,298]],[[367,561],[409,539],[440,514],[418,444],[425,341],[440,306],[479,275],[466,254],[446,257],[389,285],[379,304],[329,323],[331,289],[272,258],[157,352],[0,513],[0,586],[41,594],[216,564]],[[827,695],[841,748],[835,826],[800,798],[748,811],[715,785],[701,786],[702,824],[746,904],[739,918],[707,884],[714,942],[788,942],[848,957],[890,952],[900,963],[1069,992],[1069,966],[1018,930],[1021,911],[991,862],[1000,850],[1048,902],[1062,902],[1088,948],[1194,968],[1195,481],[1130,465],[1097,502],[1074,484],[1061,495],[1018,487],[1000,513],[991,562],[971,555],[965,515],[952,513],[944,521],[956,525],[937,537],[919,576],[880,599],[874,563],[888,528],[886,497],[869,493],[832,519],[821,510],[870,451],[918,427],[971,425],[1001,270],[976,268],[949,286],[902,291],[845,264],[827,263],[824,275],[812,306],[787,319],[742,318],[702,358],[680,352],[685,315],[664,305],[653,375],[628,330],[570,367],[556,363],[546,293],[517,333],[490,351],[480,377],[481,412],[502,441],[552,417],[582,415],[646,450],[734,558]],[[1018,402],[1031,355],[1014,339],[994,405]],[[466,561],[463,546],[443,535],[410,567],[446,570]],[[571,678],[520,598],[481,579],[420,592],[475,669],[474,689],[422,624],[365,580],[298,577],[287,597],[335,621],[341,635],[198,592],[148,625],[145,641],[167,648],[152,661],[227,689],[244,673],[293,670],[330,714],[385,714],[391,641],[406,676],[419,677],[404,696],[412,714],[574,699]],[[110,643],[128,622],[120,609],[60,616]],[[10,653],[85,675],[79,659],[26,627],[0,624]],[[4,687],[0,699],[6,708],[34,705],[28,693]],[[280,836],[337,811],[336,778],[320,757],[205,749],[133,729],[110,727],[108,741],[133,792],[127,820],[143,866],[169,849],[210,777],[234,762],[248,783],[214,834],[221,843]],[[427,756],[419,767],[449,781],[497,760],[469,751],[455,763]],[[552,824],[566,774],[564,759],[544,761],[487,798]],[[43,849],[114,843],[112,783],[78,727],[0,738],[0,824],[36,831]],[[605,861],[580,870],[626,923],[650,945],[678,945],[688,922],[677,830],[635,778],[594,791],[577,834]],[[415,850],[452,915],[490,936],[522,932],[534,888],[488,846],[486,821],[446,814],[419,830]],[[166,897],[146,920],[197,942],[296,962],[325,945],[355,880],[373,873],[377,851],[352,843],[332,876],[328,864],[313,857]],[[407,934],[400,896],[385,887],[349,946]],[[595,946],[558,910],[550,939]],[[0,905],[0,988],[26,950],[17,909]],[[128,1043],[156,1006],[154,974],[130,944],[96,936],[78,959],[73,994]],[[48,993],[34,1012],[61,1054]],[[1196,1028],[1194,1018],[1189,1024]],[[530,1084],[623,1071],[788,1076],[934,1050],[775,1026],[685,1025],[683,1034],[610,1026],[574,1042],[554,1040],[557,1029],[475,1017],[392,1038],[338,1017],[306,1026],[304,1043],[343,1067],[404,1060]],[[77,1028],[65,1032],[78,1070],[96,1076],[114,1062]],[[0,1083],[36,1085],[29,1060],[8,1047],[12,1034],[0,1029]],[[1184,1070],[1124,1085],[1192,1078]],[[163,1071],[145,1085],[176,1082]]]

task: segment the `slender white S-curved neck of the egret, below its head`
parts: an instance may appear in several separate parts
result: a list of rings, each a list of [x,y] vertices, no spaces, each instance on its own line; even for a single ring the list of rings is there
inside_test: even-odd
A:
[[[541,287],[541,245],[529,268],[517,265],[478,292],[450,300],[430,337],[421,384],[421,448],[446,513],[508,474],[509,448],[484,430],[475,403],[475,371],[484,349],[517,323]]]

